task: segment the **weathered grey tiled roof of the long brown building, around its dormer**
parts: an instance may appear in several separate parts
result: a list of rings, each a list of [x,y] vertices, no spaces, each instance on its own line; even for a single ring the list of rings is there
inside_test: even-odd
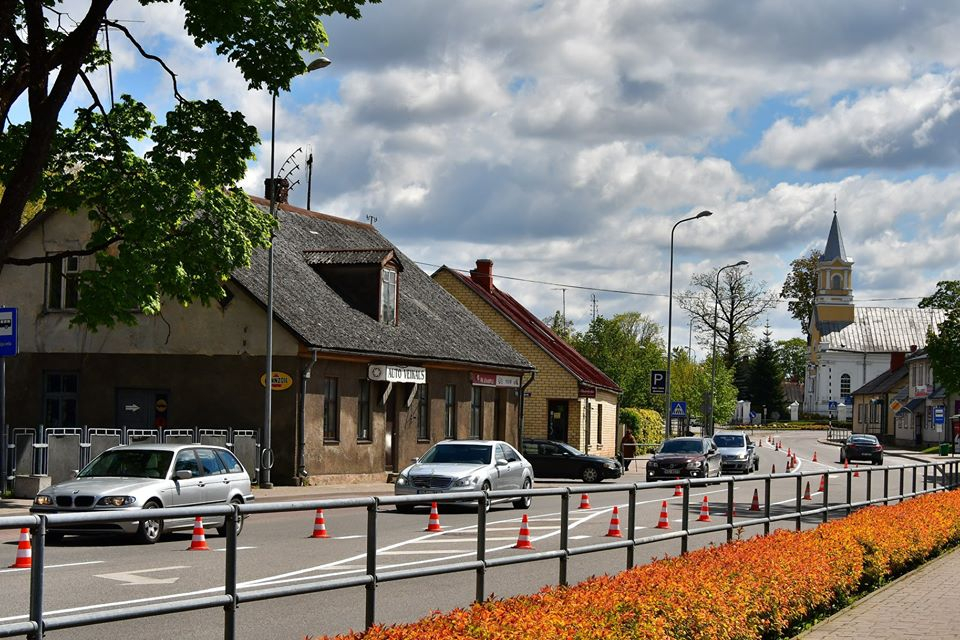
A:
[[[269,210],[269,202],[251,197]],[[278,321],[306,343],[327,352],[393,356],[532,370],[533,365],[447,293],[371,225],[284,205],[273,250],[273,306]],[[305,259],[323,250],[395,252],[398,278],[396,326],[381,324],[351,307]],[[313,254],[317,255],[317,254]],[[377,260],[379,262],[379,259]],[[267,251],[253,254],[234,280],[266,307]]]

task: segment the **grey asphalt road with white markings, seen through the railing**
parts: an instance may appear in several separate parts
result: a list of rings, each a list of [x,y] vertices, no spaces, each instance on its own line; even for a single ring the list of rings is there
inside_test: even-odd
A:
[[[783,433],[778,436],[783,450],[776,451],[765,443],[760,450],[760,471],[769,473],[775,466],[783,472],[786,449],[796,453],[801,471],[828,472],[837,470],[836,447],[817,444],[814,432]],[[759,436],[758,436],[759,437]],[[814,452],[818,462],[813,462]],[[909,463],[889,457],[886,466]],[[865,466],[860,478],[854,479],[853,500],[866,497]],[[909,476],[909,474],[908,474]],[[639,477],[639,476],[638,476]],[[845,484],[840,474],[830,474],[831,503],[840,502],[845,495]],[[811,493],[814,498],[805,502],[810,508],[820,506],[818,482],[814,477]],[[909,482],[909,480],[908,480]],[[561,482],[538,481],[537,486],[563,486]],[[610,485],[611,483],[606,483]],[[620,528],[626,528],[626,493],[592,493],[591,509],[578,509],[579,494],[584,485],[570,483],[576,492],[570,504],[570,545],[596,544],[609,541],[612,507],[620,508]],[[873,479],[874,496],[882,491],[882,475]],[[891,492],[899,489],[899,474],[890,474]],[[763,482],[738,483],[735,494],[738,520],[756,517],[750,512],[754,489],[763,496]],[[908,486],[909,490],[909,486]],[[707,526],[697,521],[703,497],[710,503],[713,522],[725,517],[726,486],[711,485],[691,491],[690,527]],[[668,503],[671,529],[680,528],[681,498],[669,489],[645,490],[637,493],[637,537],[662,532],[657,528],[661,503]],[[771,506],[782,505],[792,509],[796,502],[796,483],[780,481],[773,484]],[[527,513],[530,520],[530,540],[536,550],[559,548],[560,499],[537,498],[527,512],[497,505],[488,514],[486,540],[488,558],[524,554],[529,551],[513,549],[520,530],[520,519]],[[262,514],[251,517],[239,539],[238,581],[242,588],[281,586],[313,581],[321,578],[361,574],[365,570],[366,510],[325,510],[325,522],[330,538],[315,539],[310,534],[314,526],[314,512]],[[428,514],[417,511],[399,514],[386,507],[378,515],[378,571],[432,565],[441,562],[471,560],[476,557],[476,513],[469,507],[449,506],[440,511],[443,531],[426,532]],[[820,516],[804,519],[804,527],[812,527]],[[777,525],[774,525],[777,526]],[[784,521],[781,527],[793,528],[794,521]],[[761,527],[738,531],[749,537],[761,533]],[[15,532],[0,531],[4,559],[15,556]],[[57,612],[79,612],[116,607],[123,604],[150,604],[182,598],[185,595],[222,593],[224,583],[224,539],[212,530],[207,531],[207,542],[212,551],[186,551],[190,534],[172,534],[153,546],[140,546],[125,538],[83,539],[66,538],[47,548],[44,607],[48,615]],[[696,536],[690,540],[695,549],[710,543],[722,543],[723,532]],[[680,541],[646,545],[637,549],[638,564],[651,558],[675,555]],[[586,554],[570,558],[568,579],[576,583],[591,575],[615,573],[625,568],[626,551],[616,550]],[[4,562],[4,566],[6,562]],[[381,584],[377,589],[377,620],[384,623],[416,620],[433,610],[447,611],[469,606],[474,597],[475,574],[472,572],[432,576],[407,581]],[[494,568],[487,572],[488,595],[506,597],[534,593],[541,586],[556,584],[558,562],[540,561],[524,565]],[[4,597],[0,601],[0,623],[25,619],[28,610],[29,572],[0,569]],[[305,635],[334,634],[360,629],[364,623],[364,591],[362,587],[343,591],[296,596],[265,602],[246,603],[238,610],[237,636],[239,638],[302,638]],[[110,623],[79,629],[48,632],[46,638],[94,640],[125,638],[148,634],[159,638],[190,637],[195,640],[219,639],[223,632],[223,612],[211,609],[203,612],[158,616],[148,620]]]

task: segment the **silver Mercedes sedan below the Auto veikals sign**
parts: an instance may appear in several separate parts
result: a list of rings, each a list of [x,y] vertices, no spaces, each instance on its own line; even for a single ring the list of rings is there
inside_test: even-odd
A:
[[[398,496],[507,491],[533,487],[533,466],[516,449],[500,440],[444,440],[430,447],[400,472],[394,483]],[[517,509],[530,508],[529,496],[516,498]],[[488,507],[490,503],[487,503]],[[413,505],[398,504],[397,511]]]

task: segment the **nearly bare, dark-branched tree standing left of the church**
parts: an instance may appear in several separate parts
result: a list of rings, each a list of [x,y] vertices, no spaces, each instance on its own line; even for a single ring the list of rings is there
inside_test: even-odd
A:
[[[743,267],[724,269],[719,288],[717,270],[694,274],[690,285],[696,288],[682,292],[678,303],[696,322],[697,342],[711,348],[716,332],[723,361],[732,368],[752,341],[752,327],[776,306],[775,296],[767,290],[766,282],[754,282]]]

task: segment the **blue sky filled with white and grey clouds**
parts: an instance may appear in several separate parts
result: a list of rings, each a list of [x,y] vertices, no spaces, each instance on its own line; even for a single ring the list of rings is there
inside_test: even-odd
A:
[[[270,95],[196,49],[176,3],[110,17],[181,93],[258,128],[242,186],[262,194]],[[777,297],[836,207],[857,304],[916,306],[960,278],[955,2],[385,0],[325,26],[332,64],[278,98],[277,164],[312,152],[311,209],[374,220],[428,273],[487,258],[540,317],[563,307],[582,331],[595,300],[665,326],[677,221],[714,214],[676,228],[674,296],[747,260]],[[162,117],[169,78],[111,46],[116,93]],[[802,335],[785,301],[760,322]],[[688,341],[674,300],[672,344]]]

